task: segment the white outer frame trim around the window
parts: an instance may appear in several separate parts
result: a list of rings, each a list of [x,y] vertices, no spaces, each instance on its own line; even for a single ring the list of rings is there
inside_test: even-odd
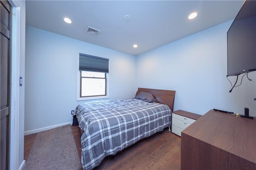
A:
[[[107,99],[109,98],[109,73],[105,73],[106,75],[106,95],[102,96],[90,96],[90,97],[81,97],[81,71],[79,70],[79,53],[77,56],[77,90],[76,90],[76,100],[94,100],[94,99]]]

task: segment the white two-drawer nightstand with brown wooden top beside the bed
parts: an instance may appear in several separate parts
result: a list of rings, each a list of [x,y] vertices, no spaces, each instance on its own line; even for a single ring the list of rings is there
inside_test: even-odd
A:
[[[181,136],[181,131],[194,123],[202,115],[182,110],[172,112],[172,132]]]

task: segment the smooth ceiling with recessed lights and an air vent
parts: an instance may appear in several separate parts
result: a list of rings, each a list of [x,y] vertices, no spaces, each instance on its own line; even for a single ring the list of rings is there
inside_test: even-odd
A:
[[[27,0],[26,25],[140,55],[232,20],[243,0]],[[197,12],[192,20],[188,15]],[[130,20],[124,20],[129,15]],[[72,24],[64,22],[68,17]],[[100,30],[86,32],[88,26]],[[133,45],[138,47],[134,48]]]

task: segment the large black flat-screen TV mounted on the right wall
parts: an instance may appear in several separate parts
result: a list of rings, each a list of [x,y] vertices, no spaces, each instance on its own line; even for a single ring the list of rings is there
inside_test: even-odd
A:
[[[256,70],[256,0],[246,0],[228,33],[228,76]]]

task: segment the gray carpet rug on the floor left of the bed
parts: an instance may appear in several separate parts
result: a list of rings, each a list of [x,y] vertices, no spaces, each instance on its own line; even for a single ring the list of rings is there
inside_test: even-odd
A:
[[[78,170],[81,162],[71,125],[39,132],[24,170]]]

